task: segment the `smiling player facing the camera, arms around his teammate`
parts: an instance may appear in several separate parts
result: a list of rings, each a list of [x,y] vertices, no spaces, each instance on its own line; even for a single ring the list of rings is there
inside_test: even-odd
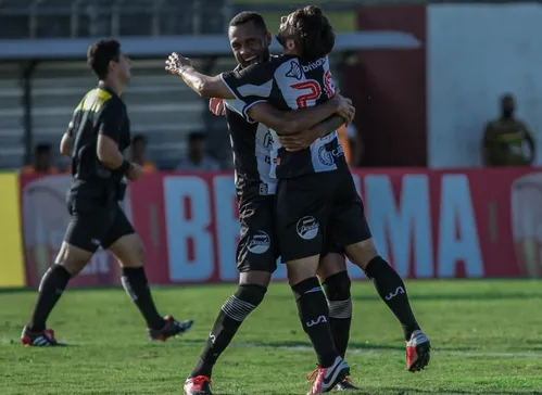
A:
[[[239,63],[238,69],[257,62],[269,61],[270,34],[260,14],[242,12],[235,16],[229,26],[229,39]],[[175,74],[174,69],[172,72]],[[338,95],[331,101],[344,102]],[[216,100],[210,103],[216,115],[222,113],[220,104],[223,103]],[[185,384],[185,393],[189,395],[211,394],[211,374],[216,359],[230,343],[242,321],[262,302],[272,273],[276,269],[279,254],[274,231],[276,180],[269,177],[269,155],[274,141],[264,124],[268,122],[280,130],[291,133],[302,131],[333,113],[333,107],[329,105],[290,112],[277,111],[267,103],[261,103],[250,112],[250,116],[261,123],[251,123],[243,117],[243,102],[239,100],[228,100],[225,113],[235,153],[236,186],[241,218],[241,240],[238,246],[240,285],[238,292],[224,304],[200,361]],[[343,106],[349,109],[349,102],[344,102]],[[343,115],[349,117],[348,114]],[[306,132],[294,135],[300,138],[297,142],[303,144],[304,141],[308,141],[310,144],[325,133],[335,131],[342,123],[344,119],[341,116],[332,116],[314,125]],[[295,145],[294,148],[299,149]],[[337,348],[340,348],[341,356],[344,356],[352,306],[350,278],[343,255],[327,254],[322,260],[318,275],[324,283],[331,310],[333,342]],[[348,380],[340,382],[337,388],[356,390]]]

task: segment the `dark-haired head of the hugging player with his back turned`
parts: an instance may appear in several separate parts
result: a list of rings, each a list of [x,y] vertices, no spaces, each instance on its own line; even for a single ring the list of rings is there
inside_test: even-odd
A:
[[[285,53],[315,61],[331,52],[335,31],[319,8],[307,5],[281,17],[277,40]]]

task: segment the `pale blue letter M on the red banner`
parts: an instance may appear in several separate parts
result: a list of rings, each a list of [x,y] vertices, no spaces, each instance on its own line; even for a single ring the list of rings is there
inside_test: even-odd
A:
[[[391,250],[393,266],[401,277],[433,276],[428,184],[426,175],[403,176],[398,207],[388,176],[365,177],[367,217],[375,244],[385,258]],[[413,240],[415,273],[409,273]]]

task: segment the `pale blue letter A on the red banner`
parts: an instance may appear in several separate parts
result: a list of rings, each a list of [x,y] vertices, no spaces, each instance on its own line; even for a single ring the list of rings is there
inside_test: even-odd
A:
[[[439,277],[454,277],[458,260],[465,263],[467,277],[483,277],[468,178],[465,175],[443,176],[441,188]]]

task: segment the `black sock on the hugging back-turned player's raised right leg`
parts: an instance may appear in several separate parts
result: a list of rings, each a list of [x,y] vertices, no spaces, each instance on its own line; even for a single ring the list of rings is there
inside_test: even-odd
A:
[[[365,273],[373,280],[378,294],[401,322],[405,340],[411,340],[412,332],[418,330],[419,326],[412,311],[406,288],[401,277],[380,256],[376,256],[369,262]]]

